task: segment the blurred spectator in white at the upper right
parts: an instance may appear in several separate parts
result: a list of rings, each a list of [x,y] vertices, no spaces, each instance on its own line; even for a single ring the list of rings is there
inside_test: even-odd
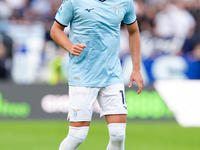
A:
[[[186,10],[184,1],[166,2],[155,16],[156,33],[160,37],[187,38],[195,27],[194,17]]]

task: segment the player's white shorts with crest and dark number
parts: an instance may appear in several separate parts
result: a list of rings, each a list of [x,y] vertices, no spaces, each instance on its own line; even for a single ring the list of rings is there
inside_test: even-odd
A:
[[[68,120],[91,121],[96,99],[101,108],[100,116],[128,114],[123,83],[104,88],[69,86]]]

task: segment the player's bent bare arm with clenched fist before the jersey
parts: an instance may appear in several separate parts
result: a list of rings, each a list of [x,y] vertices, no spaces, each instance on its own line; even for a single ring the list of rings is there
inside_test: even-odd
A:
[[[85,43],[73,44],[67,35],[63,32],[64,26],[54,21],[51,28],[51,38],[60,45],[63,49],[67,50],[71,55],[79,56],[83,49],[86,47]]]

